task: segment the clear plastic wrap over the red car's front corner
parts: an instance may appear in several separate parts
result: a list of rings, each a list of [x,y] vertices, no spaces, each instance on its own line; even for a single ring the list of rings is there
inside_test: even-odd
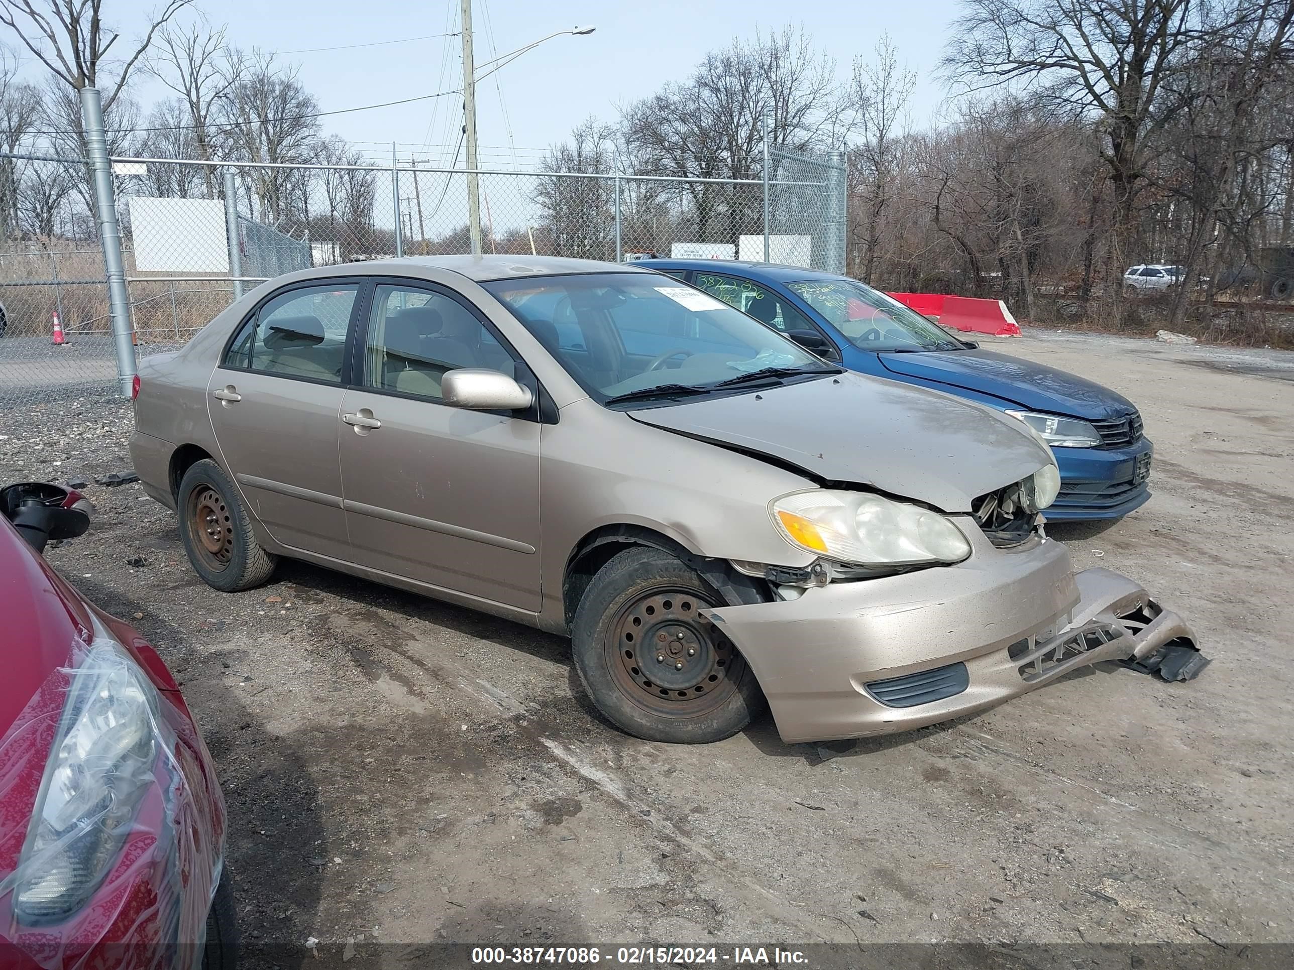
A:
[[[94,626],[0,738],[0,965],[189,970],[220,789],[179,695]]]

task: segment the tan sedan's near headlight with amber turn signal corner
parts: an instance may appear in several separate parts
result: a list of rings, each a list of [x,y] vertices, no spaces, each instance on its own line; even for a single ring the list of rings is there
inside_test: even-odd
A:
[[[792,546],[866,566],[960,563],[970,543],[949,519],[867,491],[795,491],[770,506]]]

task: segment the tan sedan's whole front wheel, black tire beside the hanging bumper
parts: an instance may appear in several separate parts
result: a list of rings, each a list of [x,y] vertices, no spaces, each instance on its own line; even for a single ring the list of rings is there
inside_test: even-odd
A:
[[[598,710],[630,735],[670,744],[722,741],[749,724],[763,692],[731,641],[699,616],[718,605],[701,577],[661,550],[635,547],[607,563],[571,635]],[[648,649],[639,658],[641,647]]]

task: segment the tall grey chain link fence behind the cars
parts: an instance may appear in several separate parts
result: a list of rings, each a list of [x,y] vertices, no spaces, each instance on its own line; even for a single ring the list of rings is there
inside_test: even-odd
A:
[[[119,393],[104,250],[82,159],[18,158],[0,213],[0,423]],[[840,158],[770,153],[765,177],[483,171],[483,253],[743,259],[844,270]],[[295,269],[471,251],[462,169],[113,159],[135,353],[182,347]],[[54,327],[54,321],[58,329]]]

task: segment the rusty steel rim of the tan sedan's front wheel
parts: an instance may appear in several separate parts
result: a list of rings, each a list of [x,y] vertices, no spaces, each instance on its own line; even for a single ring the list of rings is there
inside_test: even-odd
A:
[[[699,616],[712,605],[677,587],[657,587],[630,600],[616,616],[607,644],[616,687],[635,705],[666,718],[695,718],[722,707],[736,691],[744,661]]]

